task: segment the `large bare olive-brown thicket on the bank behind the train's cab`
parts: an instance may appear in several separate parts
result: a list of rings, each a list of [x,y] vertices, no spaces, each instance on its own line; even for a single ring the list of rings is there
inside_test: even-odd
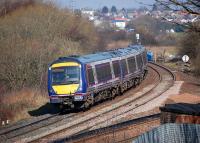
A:
[[[51,5],[21,7],[0,18],[0,81],[11,89],[45,87],[48,64],[95,51],[91,23]]]

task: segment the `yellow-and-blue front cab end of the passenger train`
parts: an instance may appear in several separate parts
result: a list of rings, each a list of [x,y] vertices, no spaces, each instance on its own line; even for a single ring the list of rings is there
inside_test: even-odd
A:
[[[82,106],[85,101],[84,66],[77,61],[54,63],[48,71],[50,103],[70,108]]]

